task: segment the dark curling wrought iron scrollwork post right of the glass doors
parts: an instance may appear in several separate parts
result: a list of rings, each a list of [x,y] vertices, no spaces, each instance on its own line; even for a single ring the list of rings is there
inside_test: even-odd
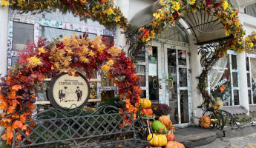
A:
[[[209,71],[220,59],[222,52],[220,49],[223,48],[223,42],[218,43],[209,43],[200,47],[198,54],[201,55],[200,63],[203,67],[203,71],[199,77],[198,88],[203,95],[203,104],[199,108],[203,110],[203,115],[209,115],[213,120],[214,127],[217,129],[223,129],[225,126],[239,126],[238,121],[233,117],[230,112],[225,110],[220,110],[217,107],[214,107],[215,100],[209,94],[207,88],[207,76]]]

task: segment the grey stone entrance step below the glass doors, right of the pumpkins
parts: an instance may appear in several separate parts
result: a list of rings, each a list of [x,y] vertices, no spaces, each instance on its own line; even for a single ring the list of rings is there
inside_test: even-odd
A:
[[[174,135],[174,141],[184,144],[186,148],[200,147],[206,144],[211,144],[216,140],[216,130],[203,129],[201,127],[176,129]]]

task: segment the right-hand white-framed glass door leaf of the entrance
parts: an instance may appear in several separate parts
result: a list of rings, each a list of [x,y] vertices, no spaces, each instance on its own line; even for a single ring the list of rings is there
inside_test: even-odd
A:
[[[191,110],[188,55],[185,49],[165,44],[165,95],[173,124],[189,124]]]

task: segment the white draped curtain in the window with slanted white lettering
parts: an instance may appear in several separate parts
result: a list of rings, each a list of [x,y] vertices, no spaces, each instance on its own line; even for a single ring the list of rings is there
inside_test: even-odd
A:
[[[209,72],[210,87],[214,87],[214,85],[217,84],[223,77],[224,71],[229,63],[228,61],[229,56],[225,55],[223,58],[220,58],[216,64],[214,64],[214,67],[212,67],[211,71]]]

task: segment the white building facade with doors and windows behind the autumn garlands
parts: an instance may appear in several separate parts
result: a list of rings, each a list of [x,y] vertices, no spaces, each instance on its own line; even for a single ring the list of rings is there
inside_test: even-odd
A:
[[[116,0],[124,16],[131,24],[131,30],[142,27],[159,8],[157,0]],[[256,30],[256,1],[231,0],[233,7],[239,10],[240,21],[246,35]],[[19,13],[12,8],[0,7],[0,73],[7,73],[14,66],[17,53],[25,47],[27,41],[38,41],[39,37],[57,38],[73,33],[88,33],[90,38],[106,36],[123,47],[128,53],[127,33],[119,27],[105,28],[98,22],[88,19],[80,21],[70,13],[43,12]],[[192,15],[192,14],[191,14]],[[203,20],[203,18],[201,18]],[[201,21],[202,22],[202,21]],[[203,98],[197,90],[198,77],[202,71],[200,45],[210,40],[221,39],[220,24],[214,25],[214,33],[196,33],[190,27],[191,22],[184,17],[174,27],[166,29],[149,41],[136,57],[137,75],[142,88],[141,98],[149,98],[153,103],[168,104],[172,108],[171,121],[177,127],[198,124],[203,114],[198,108]],[[207,42],[206,44],[210,44]],[[208,90],[223,110],[233,115],[252,115],[256,118],[256,53],[235,53],[232,49],[211,69],[208,76]],[[101,73],[95,73],[101,82],[93,82],[91,101],[114,97],[117,88],[114,82]],[[38,103],[47,104],[45,92],[39,94]]]

